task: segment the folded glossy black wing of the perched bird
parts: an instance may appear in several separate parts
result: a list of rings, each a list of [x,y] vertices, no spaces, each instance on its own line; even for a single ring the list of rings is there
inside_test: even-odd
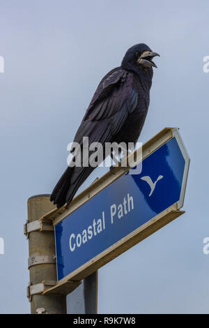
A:
[[[137,106],[133,73],[122,68],[111,70],[100,82],[91,100],[75,142],[84,136],[91,142],[108,142],[123,126],[127,115]]]

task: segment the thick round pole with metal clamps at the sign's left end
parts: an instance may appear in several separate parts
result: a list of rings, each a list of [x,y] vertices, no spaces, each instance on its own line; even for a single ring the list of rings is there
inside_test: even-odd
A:
[[[35,195],[28,200],[28,221],[24,234],[29,238],[28,297],[31,313],[66,313],[65,295],[42,295],[42,292],[56,284],[56,261],[54,227],[52,221],[40,218],[54,209],[49,195]]]

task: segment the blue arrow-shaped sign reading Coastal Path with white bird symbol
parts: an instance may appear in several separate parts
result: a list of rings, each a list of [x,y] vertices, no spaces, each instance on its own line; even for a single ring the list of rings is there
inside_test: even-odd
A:
[[[175,136],[55,226],[58,281],[131,236],[160,213],[183,206],[189,157]],[[122,252],[121,252],[122,253]],[[116,257],[116,256],[115,256]],[[107,261],[108,262],[108,261]]]

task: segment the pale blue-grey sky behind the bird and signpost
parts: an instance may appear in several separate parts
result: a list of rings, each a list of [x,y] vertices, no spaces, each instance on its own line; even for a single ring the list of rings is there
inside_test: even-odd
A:
[[[141,42],[161,57],[140,141],[180,128],[191,157],[186,213],[100,269],[98,309],[209,313],[208,15],[206,0],[0,0],[0,313],[29,313],[28,197],[52,191],[95,88]]]

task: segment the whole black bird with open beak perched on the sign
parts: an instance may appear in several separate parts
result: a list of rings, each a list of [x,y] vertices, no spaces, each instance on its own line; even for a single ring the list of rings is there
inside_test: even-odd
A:
[[[150,102],[153,57],[160,56],[144,43],[130,47],[121,66],[105,75],[98,85],[84,119],[75,135],[82,148],[83,137],[91,142],[137,142]],[[153,66],[153,67],[152,67]],[[69,167],[50,197],[56,206],[67,206],[79,186],[95,167]]]

